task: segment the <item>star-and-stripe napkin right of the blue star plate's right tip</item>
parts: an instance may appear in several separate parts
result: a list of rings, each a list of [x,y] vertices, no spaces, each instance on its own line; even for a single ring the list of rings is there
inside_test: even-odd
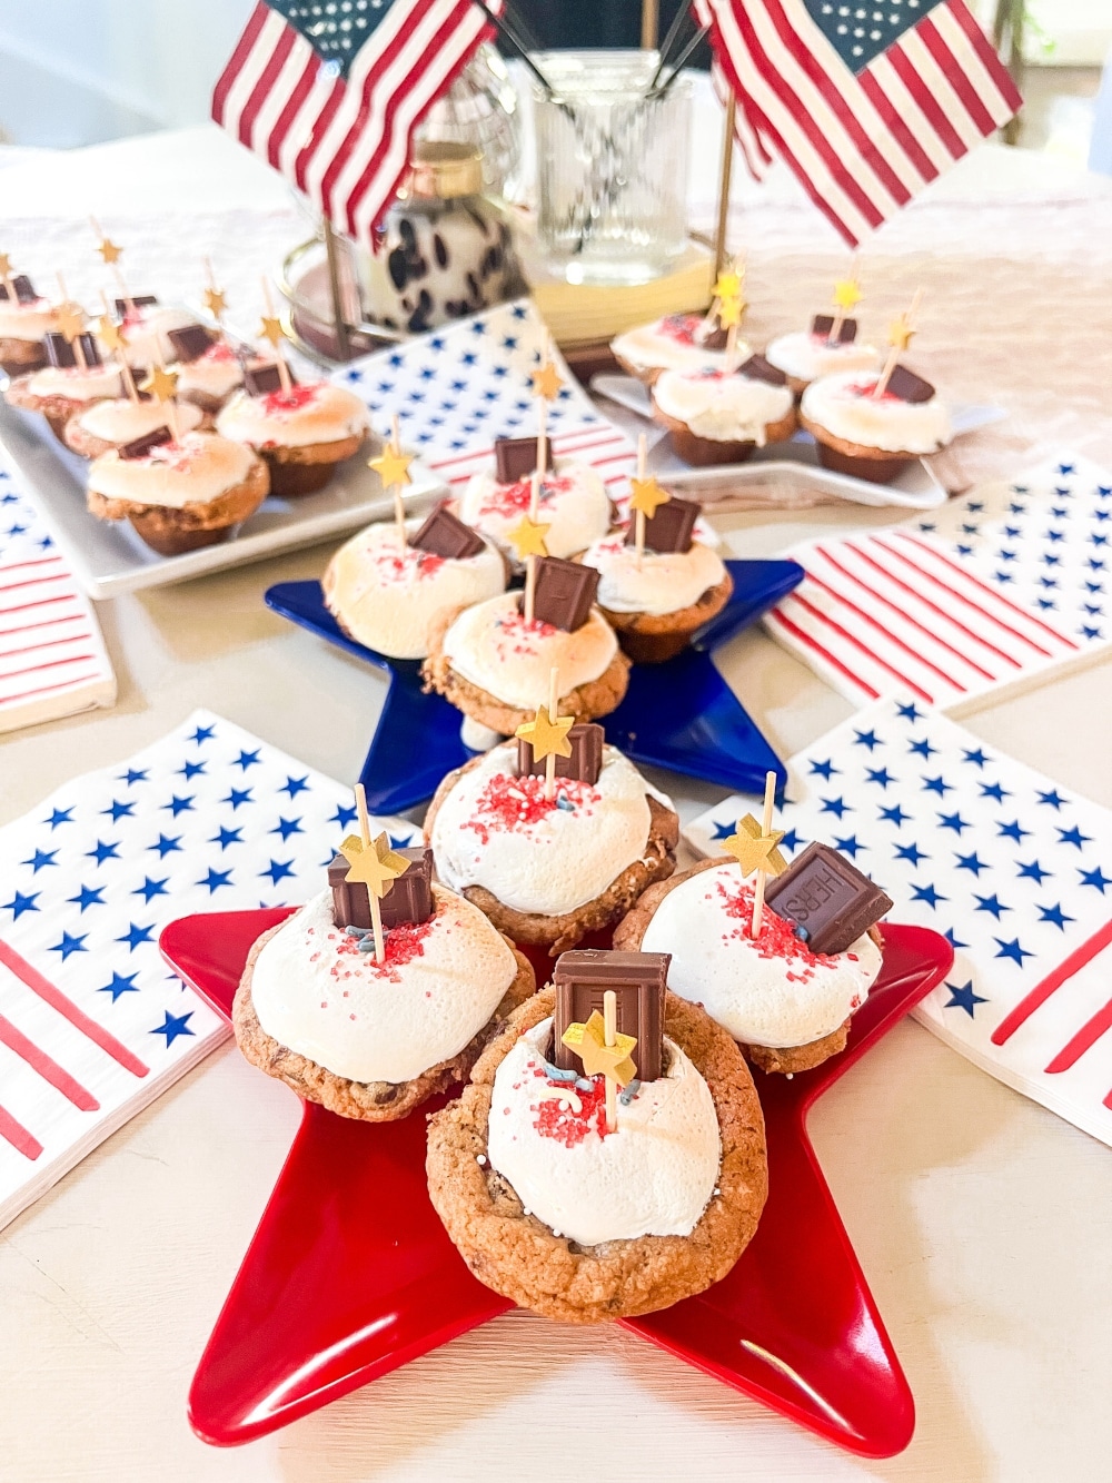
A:
[[[1112,476],[1039,464],[884,531],[790,552],[804,581],[765,627],[835,690],[956,710],[1108,650]]]

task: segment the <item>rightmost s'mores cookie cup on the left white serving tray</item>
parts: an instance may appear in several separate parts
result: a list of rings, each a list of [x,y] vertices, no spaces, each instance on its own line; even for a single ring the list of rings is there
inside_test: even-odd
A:
[[[286,498],[323,489],[369,430],[366,406],[354,392],[331,381],[283,390],[276,366],[249,371],[243,390],[216,415],[221,437],[254,448],[267,461],[271,492]]]

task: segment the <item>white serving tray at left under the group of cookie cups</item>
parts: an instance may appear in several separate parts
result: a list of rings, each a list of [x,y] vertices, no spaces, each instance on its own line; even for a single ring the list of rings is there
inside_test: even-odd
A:
[[[70,561],[74,575],[90,598],[117,598],[142,587],[166,587],[211,571],[245,567],[248,562],[369,525],[393,510],[393,497],[383,491],[378,475],[366,467],[377,448],[371,439],[319,494],[298,500],[268,498],[239,532],[219,546],[205,546],[184,556],[159,556],[126,522],[98,521],[85,507],[87,463],[68,452],[46,421],[34,412],[18,412],[0,403],[0,454],[18,470],[27,492]],[[406,509],[421,509],[446,494],[420,461],[409,466],[412,483]]]

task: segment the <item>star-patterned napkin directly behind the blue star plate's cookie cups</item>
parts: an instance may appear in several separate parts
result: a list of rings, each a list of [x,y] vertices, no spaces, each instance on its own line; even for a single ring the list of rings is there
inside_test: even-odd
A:
[[[363,397],[377,430],[396,412],[402,442],[458,492],[492,458],[495,437],[535,435],[531,378],[544,349],[544,322],[529,300],[519,300],[356,360],[334,380]],[[595,466],[620,503],[636,451],[599,414],[559,351],[549,353],[563,381],[549,406],[553,452]]]

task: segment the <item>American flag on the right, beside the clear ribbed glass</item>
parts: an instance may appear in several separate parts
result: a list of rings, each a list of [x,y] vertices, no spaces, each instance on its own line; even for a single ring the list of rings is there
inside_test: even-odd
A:
[[[780,157],[851,245],[1022,99],[962,0],[695,0],[759,178]]]

